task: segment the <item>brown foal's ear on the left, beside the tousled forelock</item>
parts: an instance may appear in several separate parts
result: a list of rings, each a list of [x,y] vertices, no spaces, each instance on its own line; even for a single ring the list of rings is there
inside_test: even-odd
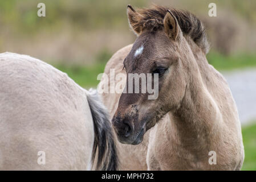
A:
[[[128,16],[129,26],[132,28],[133,32],[135,32],[135,34],[139,36],[142,31],[142,26],[140,24],[141,15],[137,13],[131,5],[128,5],[127,16]]]

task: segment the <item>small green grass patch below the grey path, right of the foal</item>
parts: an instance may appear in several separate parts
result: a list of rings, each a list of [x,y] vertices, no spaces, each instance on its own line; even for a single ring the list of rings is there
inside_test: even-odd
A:
[[[256,125],[243,127],[242,135],[245,146],[245,160],[242,170],[256,170]]]

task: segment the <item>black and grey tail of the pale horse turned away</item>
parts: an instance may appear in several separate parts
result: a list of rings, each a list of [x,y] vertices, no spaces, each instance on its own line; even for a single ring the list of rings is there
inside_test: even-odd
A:
[[[87,100],[94,120],[94,148],[92,164],[97,153],[97,170],[115,171],[118,167],[118,156],[108,112],[100,101],[96,90],[89,90]]]

